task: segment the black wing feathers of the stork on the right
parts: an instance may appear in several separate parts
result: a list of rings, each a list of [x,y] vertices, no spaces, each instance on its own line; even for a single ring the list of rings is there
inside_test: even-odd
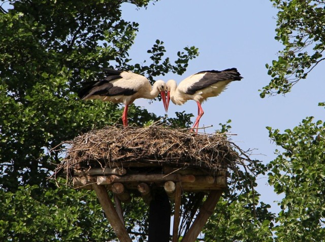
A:
[[[202,74],[202,73],[204,73],[203,77],[200,80],[198,80],[198,82],[190,86],[187,89],[186,94],[193,95],[199,90],[205,89],[217,82],[221,82],[224,80],[228,80],[229,82],[232,82],[233,80],[241,80],[243,78],[242,76],[240,76],[240,73],[237,71],[236,68],[230,68],[230,69],[225,69],[220,71],[204,70],[196,74]]]

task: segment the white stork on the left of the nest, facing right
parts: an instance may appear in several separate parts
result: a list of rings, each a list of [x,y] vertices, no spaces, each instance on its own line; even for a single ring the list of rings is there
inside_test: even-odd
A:
[[[153,86],[143,76],[129,71],[104,69],[107,77],[103,80],[85,83],[87,86],[80,90],[78,96],[82,100],[100,99],[113,103],[124,103],[122,115],[123,125],[127,126],[127,109],[137,98],[156,98],[160,92],[165,110],[166,105],[166,84],[163,80],[157,80]]]

